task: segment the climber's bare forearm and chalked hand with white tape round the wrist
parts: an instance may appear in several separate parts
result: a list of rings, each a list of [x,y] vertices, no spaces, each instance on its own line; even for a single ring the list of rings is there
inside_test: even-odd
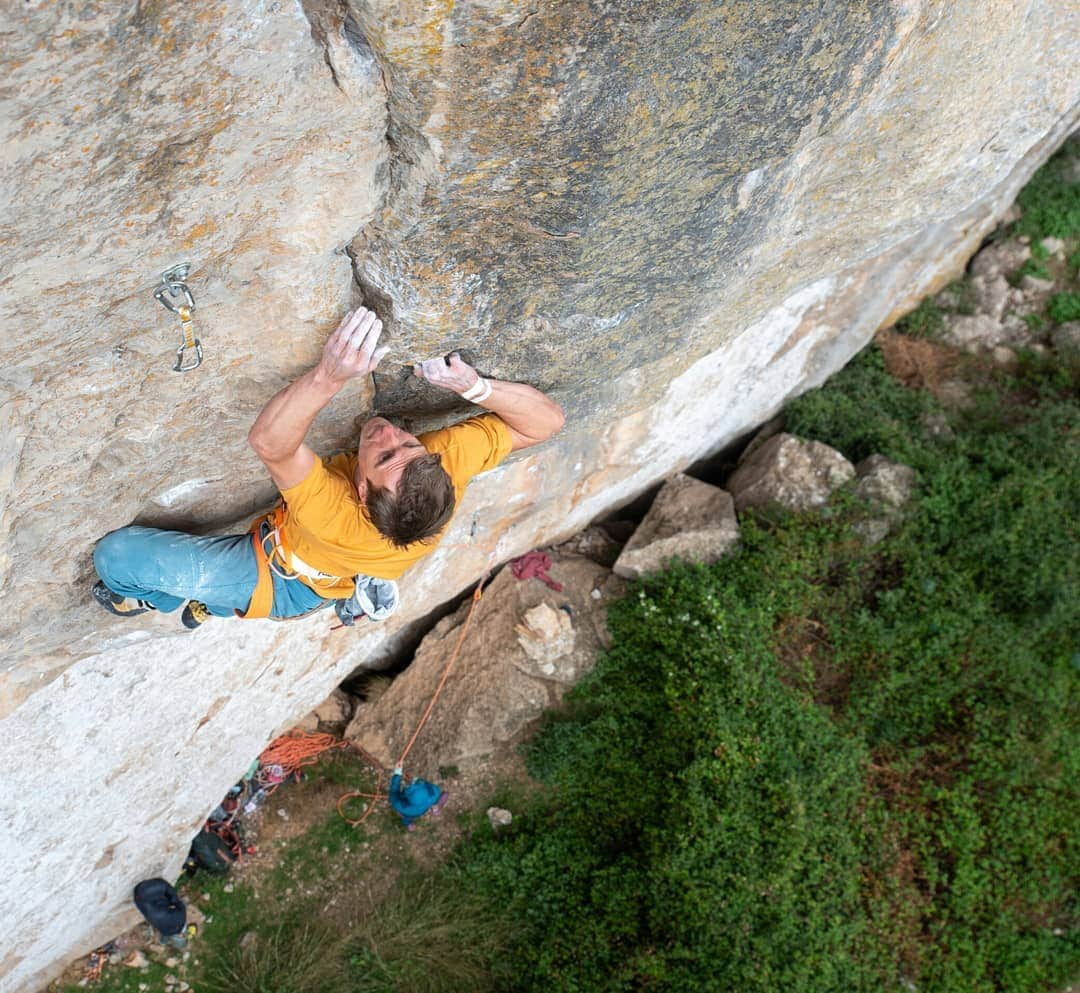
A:
[[[457,352],[446,359],[430,359],[414,365],[413,372],[433,386],[453,390],[498,414],[510,429],[512,452],[546,441],[566,420],[563,408],[545,393],[524,383],[482,381],[476,370],[463,362]]]

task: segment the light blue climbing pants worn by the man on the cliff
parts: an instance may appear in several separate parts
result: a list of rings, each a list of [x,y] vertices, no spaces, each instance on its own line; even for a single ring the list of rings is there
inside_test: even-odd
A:
[[[215,617],[246,610],[258,580],[252,536],[201,538],[157,527],[121,527],[97,542],[94,567],[113,593],[170,613],[198,600]],[[273,574],[271,617],[298,617],[332,604],[299,579]]]

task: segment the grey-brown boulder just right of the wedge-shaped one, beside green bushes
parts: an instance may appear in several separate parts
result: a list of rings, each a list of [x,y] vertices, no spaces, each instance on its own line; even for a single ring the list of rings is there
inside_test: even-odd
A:
[[[835,448],[782,433],[740,461],[728,488],[740,512],[773,505],[810,510],[827,504],[833,491],[854,474],[854,466]]]

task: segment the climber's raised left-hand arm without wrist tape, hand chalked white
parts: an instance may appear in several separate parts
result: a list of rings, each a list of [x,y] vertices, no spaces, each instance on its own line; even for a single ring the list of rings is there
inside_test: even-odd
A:
[[[361,307],[346,314],[310,372],[278,393],[255,419],[247,442],[280,489],[307,479],[319,457],[305,443],[312,421],[354,376],[374,372],[389,349],[377,348],[382,322]]]

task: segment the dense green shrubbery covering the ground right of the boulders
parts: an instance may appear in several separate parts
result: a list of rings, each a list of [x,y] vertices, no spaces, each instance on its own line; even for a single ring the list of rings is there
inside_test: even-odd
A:
[[[1078,404],[1002,380],[948,443],[870,349],[788,411],[913,465],[905,526],[744,522],[610,614],[528,751],[544,790],[451,870],[522,991],[1051,989],[1075,975]],[[1005,404],[1003,398],[1015,398]],[[1056,931],[1063,931],[1057,934]]]

